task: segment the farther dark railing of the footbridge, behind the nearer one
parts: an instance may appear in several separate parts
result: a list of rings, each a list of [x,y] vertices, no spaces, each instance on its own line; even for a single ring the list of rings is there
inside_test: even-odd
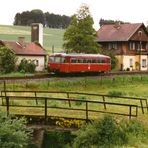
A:
[[[74,98],[72,95],[85,95],[85,96],[92,96],[92,97],[101,97],[102,101],[103,101],[103,105],[104,105],[104,109],[107,108],[107,104],[106,102],[110,102],[110,101],[106,101],[112,98],[115,98],[116,101],[118,101],[120,103],[121,100],[131,100],[132,104],[137,105],[136,101],[138,101],[138,107],[141,108],[142,113],[144,114],[145,110],[147,110],[148,112],[148,102],[146,98],[139,98],[139,97],[127,97],[127,96],[112,96],[112,95],[104,95],[104,94],[94,94],[94,93],[84,93],[84,92],[71,92],[71,91],[8,91],[8,90],[2,90],[1,91],[1,95],[7,96],[10,93],[13,93],[13,95],[16,95],[17,93],[20,95],[20,93],[22,94],[26,94],[26,93],[31,93],[32,96],[35,97],[35,101],[36,101],[36,105],[38,104],[38,99],[37,96],[38,95],[42,95],[43,96],[45,94],[65,94],[66,97],[68,98],[68,103],[69,103],[69,107],[71,107],[71,98]],[[11,94],[12,95],[12,94]],[[42,97],[43,97],[42,96]],[[78,97],[76,97],[77,99]],[[98,99],[97,99],[98,100]],[[3,100],[2,100],[3,101]],[[135,102],[135,103],[134,103]],[[130,102],[128,102],[128,104],[130,104]]]

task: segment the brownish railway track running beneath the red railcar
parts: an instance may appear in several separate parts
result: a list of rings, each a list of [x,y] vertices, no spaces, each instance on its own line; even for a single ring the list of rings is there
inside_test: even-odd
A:
[[[54,74],[38,74],[38,75],[26,75],[21,77],[0,77],[0,81],[15,81],[15,80],[36,80],[36,79],[48,79],[48,78],[78,78],[78,77],[106,77],[106,76],[120,76],[120,75],[145,75],[148,74],[148,71],[120,71],[120,72],[110,72],[105,74],[93,74],[93,75],[54,75]]]

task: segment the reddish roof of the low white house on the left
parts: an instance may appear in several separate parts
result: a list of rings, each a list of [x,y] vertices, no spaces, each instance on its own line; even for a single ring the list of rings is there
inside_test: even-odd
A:
[[[14,51],[16,55],[34,55],[34,56],[44,56],[46,51],[43,47],[37,45],[36,43],[26,43],[23,44],[15,41],[0,41],[2,45],[10,48]]]

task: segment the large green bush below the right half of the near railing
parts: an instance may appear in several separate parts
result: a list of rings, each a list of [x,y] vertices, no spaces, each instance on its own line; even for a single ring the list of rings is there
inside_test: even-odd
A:
[[[119,128],[111,116],[105,116],[100,121],[88,124],[77,133],[74,141],[76,148],[112,147],[127,143],[126,134]]]

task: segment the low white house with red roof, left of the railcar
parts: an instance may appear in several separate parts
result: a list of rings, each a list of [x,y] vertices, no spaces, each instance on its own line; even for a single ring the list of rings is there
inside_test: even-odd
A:
[[[12,50],[18,57],[17,64],[21,60],[31,60],[36,64],[36,71],[42,71],[45,69],[46,51],[45,49],[35,42],[27,43],[24,37],[19,37],[18,41],[2,41],[1,46],[6,46]]]

